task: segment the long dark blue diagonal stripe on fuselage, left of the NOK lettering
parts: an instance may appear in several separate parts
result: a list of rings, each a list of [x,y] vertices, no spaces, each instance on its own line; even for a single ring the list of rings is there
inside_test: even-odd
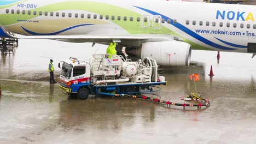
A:
[[[133,7],[136,7],[136,6],[133,6]],[[162,14],[159,14],[159,13],[156,13],[155,11],[152,11],[152,10],[148,10],[148,9],[144,9],[144,8],[141,8],[141,7],[136,7],[138,9],[141,9],[141,10],[144,10],[146,11],[147,13],[150,13],[152,15],[160,15],[163,19],[165,19],[165,21],[167,22],[168,19],[170,19],[169,17],[165,16],[165,15],[162,15]],[[219,45],[219,44],[216,44],[216,43],[213,43],[212,41],[206,39],[206,38],[203,38],[201,35],[191,31],[189,28],[181,25],[181,23],[175,23],[173,24],[173,20],[171,20],[171,25],[174,26],[174,27],[177,27],[178,29],[180,29],[181,31],[189,34],[191,37],[201,41],[202,43],[205,43],[207,45],[210,45],[210,46],[213,46],[213,47],[216,47],[217,49],[222,49],[222,50],[236,50],[236,49],[233,49],[233,48],[230,48],[230,47],[226,47],[226,46],[222,46],[222,45]]]

